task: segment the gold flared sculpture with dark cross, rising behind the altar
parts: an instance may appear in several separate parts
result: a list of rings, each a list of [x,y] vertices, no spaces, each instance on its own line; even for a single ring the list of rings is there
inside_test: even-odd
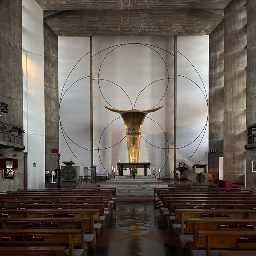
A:
[[[148,110],[119,110],[107,106],[104,107],[122,116],[126,130],[128,159],[130,163],[137,163],[139,161],[140,137],[144,119],[148,113],[155,112],[163,106]]]

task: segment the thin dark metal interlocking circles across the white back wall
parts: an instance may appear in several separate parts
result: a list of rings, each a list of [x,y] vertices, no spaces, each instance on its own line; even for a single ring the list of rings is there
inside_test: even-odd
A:
[[[134,105],[132,105],[132,101],[130,100],[130,97],[129,97],[128,94],[125,92],[125,90],[124,90],[121,86],[119,86],[118,84],[116,84],[116,83],[114,83],[114,82],[112,82],[112,81],[110,81],[110,80],[106,80],[106,79],[100,78],[100,71],[101,71],[101,69],[102,69],[102,65],[103,65],[104,61],[105,61],[106,58],[109,56],[109,54],[111,54],[112,52],[114,52],[114,51],[115,51],[116,49],[118,49],[118,48],[121,48],[121,47],[123,47],[123,46],[134,45],[134,44],[135,44],[135,45],[140,45],[140,46],[144,46],[144,47],[150,48],[153,52],[155,52],[156,54],[158,54],[159,58],[161,58],[162,61],[164,62],[164,65],[165,65],[165,68],[166,68],[166,72],[167,72],[167,78],[158,79],[158,80],[153,81],[153,82],[151,82],[150,84],[146,85],[146,86],[140,91],[140,93],[138,94],[138,96],[137,96],[137,98],[136,98],[136,100],[135,100],[135,102],[134,102]],[[105,48],[105,49],[103,49],[103,50],[97,52],[96,54],[94,54],[92,57],[94,57],[94,56],[96,56],[96,55],[98,55],[98,54],[100,54],[100,53],[102,53],[102,52],[104,52],[104,51],[106,51],[106,50],[109,50],[109,49],[110,49],[110,52],[108,52],[108,54],[106,54],[106,56],[103,58],[103,60],[102,60],[102,62],[101,62],[101,64],[100,64],[100,68],[99,68],[99,70],[98,70],[98,78],[93,78],[93,80],[98,80],[98,87],[99,87],[100,93],[101,93],[101,95],[102,95],[102,98],[104,98],[104,100],[107,102],[107,104],[108,104],[109,106],[111,106],[112,108],[114,108],[114,107],[106,100],[104,94],[102,93],[102,90],[101,90],[101,88],[100,88],[100,81],[101,81],[101,80],[102,80],[102,81],[106,81],[106,82],[110,82],[110,83],[114,84],[115,86],[118,86],[118,87],[126,94],[126,96],[128,97],[128,100],[130,101],[130,104],[131,104],[131,106],[132,106],[132,109],[135,109],[136,102],[137,102],[139,96],[142,94],[142,92],[143,92],[146,88],[148,88],[148,86],[152,86],[154,83],[159,82],[159,81],[161,81],[161,80],[167,80],[167,86],[166,86],[166,90],[165,90],[165,92],[164,92],[164,95],[163,95],[162,98],[158,101],[158,103],[157,103],[156,105],[154,105],[152,108],[156,107],[156,106],[162,101],[162,99],[164,98],[164,96],[166,95],[166,92],[167,92],[168,87],[169,87],[169,81],[174,79],[174,78],[170,78],[170,77],[169,77],[168,66],[167,66],[166,62],[164,61],[164,59],[162,58],[161,54],[158,52],[158,50],[163,50],[164,52],[166,52],[167,54],[171,54],[172,56],[174,56],[174,54],[172,54],[171,52],[168,52],[167,50],[165,50],[165,49],[163,49],[163,48],[160,48],[160,47],[158,47],[158,46],[154,46],[154,45],[151,45],[151,44],[125,43],[125,44],[118,44],[118,45],[114,45],[114,46],[110,46],[110,47],[108,47],[108,48]],[[202,85],[203,85],[204,90],[202,90],[202,89],[200,88],[200,86],[199,86],[198,84],[196,84],[196,82],[192,81],[190,78],[187,78],[186,76],[181,76],[181,75],[177,75],[177,76],[186,78],[187,80],[189,80],[190,82],[192,82],[194,85],[196,85],[196,86],[199,88],[199,90],[202,92],[202,94],[203,94],[203,96],[204,96],[204,98],[205,98],[205,100],[206,100],[206,105],[207,105],[206,123],[205,123],[204,127],[202,128],[202,131],[200,132],[200,134],[198,134],[198,136],[197,136],[194,140],[192,140],[190,143],[188,143],[188,144],[186,144],[186,145],[184,145],[184,146],[180,146],[180,147],[176,148],[176,150],[177,150],[177,149],[181,149],[181,148],[185,148],[185,147],[189,146],[190,144],[192,144],[193,142],[195,142],[196,140],[198,140],[198,138],[203,134],[203,135],[202,135],[202,138],[201,138],[201,140],[200,140],[200,142],[198,143],[198,146],[196,147],[196,150],[192,153],[192,155],[190,156],[190,158],[188,158],[188,160],[186,161],[186,162],[188,162],[188,161],[192,158],[192,156],[196,153],[197,149],[199,148],[199,146],[200,146],[200,144],[201,144],[201,142],[202,142],[202,140],[203,140],[203,138],[204,138],[204,134],[205,134],[205,132],[206,132],[207,123],[208,123],[209,106],[208,106],[208,97],[207,97],[206,88],[205,88],[204,82],[203,82],[203,80],[202,80],[200,74],[198,73],[198,71],[196,70],[196,68],[194,67],[194,65],[188,60],[188,58],[186,58],[182,53],[180,53],[180,52],[178,52],[178,51],[177,51],[177,53],[180,54],[181,56],[183,56],[183,57],[188,61],[188,63],[194,68],[194,70],[196,71],[196,73],[198,74],[198,76],[199,76],[199,78],[200,78],[200,81],[202,82]],[[87,150],[87,151],[90,151],[90,149],[87,149],[87,148],[84,148],[84,147],[80,146],[78,143],[74,142],[74,141],[70,138],[70,136],[68,136],[68,134],[67,134],[67,132],[65,131],[65,129],[64,129],[63,125],[62,125],[62,122],[61,122],[61,118],[60,118],[60,107],[61,107],[61,103],[62,103],[63,97],[65,96],[66,92],[68,92],[68,90],[69,90],[72,86],[74,86],[78,81],[80,81],[80,80],[82,80],[82,79],[87,79],[87,78],[90,77],[90,76],[86,76],[86,77],[83,77],[83,78],[78,79],[77,81],[73,82],[70,86],[68,86],[68,88],[64,91],[64,87],[66,86],[66,82],[67,82],[67,80],[68,80],[70,74],[72,73],[72,71],[74,70],[74,68],[78,65],[78,63],[79,63],[83,58],[85,58],[88,54],[90,54],[90,52],[88,52],[88,53],[86,53],[84,56],[82,56],[82,58],[80,58],[80,60],[78,60],[78,62],[76,62],[76,64],[74,65],[74,67],[72,68],[72,70],[70,71],[70,73],[68,74],[68,76],[67,76],[67,78],[66,78],[66,80],[65,80],[65,82],[64,82],[62,91],[61,91],[60,103],[59,103],[59,121],[60,121],[60,128],[61,128],[61,131],[62,131],[62,135],[63,135],[63,137],[64,137],[64,140],[65,140],[65,142],[66,142],[68,148],[69,148],[70,151],[72,152],[72,154],[76,157],[76,159],[77,159],[83,166],[85,166],[85,165],[84,165],[84,164],[78,159],[78,157],[74,154],[73,150],[70,148],[70,145],[68,144],[68,141],[66,140],[66,137],[69,138],[76,146],[78,146],[78,147],[80,147],[80,148],[82,148],[82,149],[84,149],[84,150]],[[100,158],[100,150],[106,150],[106,149],[109,149],[109,148],[112,148],[112,147],[118,145],[120,142],[122,142],[122,141],[126,138],[126,136],[124,136],[124,138],[122,138],[122,140],[120,140],[118,143],[116,143],[116,144],[114,144],[114,145],[112,145],[112,146],[106,147],[106,148],[100,148],[100,141],[101,141],[101,139],[102,139],[102,136],[103,136],[103,134],[104,134],[104,131],[108,128],[108,126],[110,126],[110,124],[112,124],[114,121],[116,121],[116,120],[119,119],[119,118],[121,118],[121,117],[118,117],[118,118],[112,120],[109,124],[106,125],[106,127],[104,128],[104,130],[102,131],[102,134],[101,134],[101,136],[100,136],[100,139],[99,139],[99,142],[98,142],[98,148],[94,148],[94,150],[97,150],[97,151],[98,151],[98,156],[99,156],[100,162],[101,162],[101,164],[102,164],[102,167],[104,168],[104,170],[105,170],[107,173],[108,173],[108,171],[107,171],[106,168],[104,167],[104,165],[103,165],[103,163],[102,163],[102,160],[101,160],[101,158]],[[147,118],[148,118],[148,117],[147,117]],[[162,170],[164,169],[164,167],[166,166],[167,161],[168,161],[169,150],[170,150],[170,149],[174,149],[174,148],[169,148],[168,138],[167,138],[166,133],[164,132],[163,128],[160,126],[160,124],[158,124],[155,120],[153,120],[153,119],[151,119],[151,118],[148,118],[148,119],[149,119],[149,120],[152,120],[153,122],[155,122],[155,123],[160,127],[160,129],[162,130],[162,132],[163,132],[164,135],[165,135],[166,142],[167,142],[167,148],[166,148],[166,147],[160,147],[160,146],[156,146],[156,145],[151,144],[150,142],[148,142],[145,138],[143,138],[143,137],[141,136],[141,138],[142,138],[146,143],[148,143],[149,145],[151,145],[151,146],[153,146],[153,147],[155,147],[155,148],[160,148],[160,149],[163,149],[163,150],[168,150],[168,152],[167,152],[167,157],[166,157],[166,161],[165,161],[165,163],[164,163],[164,166],[163,166],[162,169],[160,170],[160,173],[161,173]],[[66,137],[65,137],[65,136],[66,136]],[[66,168],[67,168],[67,167],[66,167]],[[64,170],[65,170],[65,168],[63,169],[63,171],[64,171]],[[73,169],[73,170],[74,170],[74,169]],[[62,171],[62,172],[63,172],[63,171]],[[75,170],[74,170],[74,172],[75,172]],[[108,173],[108,174],[109,174],[109,173]],[[74,174],[74,175],[76,175],[76,174]],[[167,174],[166,176],[168,176],[168,175],[169,175],[169,174]],[[75,176],[74,176],[74,177],[75,177]],[[73,178],[74,178],[74,177],[73,177]],[[63,178],[64,178],[64,177],[63,177]],[[66,177],[66,178],[71,178],[71,177],[68,176],[68,177]],[[162,178],[163,178],[163,177],[162,177]]]

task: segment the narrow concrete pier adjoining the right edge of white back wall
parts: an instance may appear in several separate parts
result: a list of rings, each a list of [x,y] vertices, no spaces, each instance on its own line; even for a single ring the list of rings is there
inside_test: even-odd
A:
[[[210,34],[209,56],[209,148],[216,153],[209,153],[208,172],[217,181],[223,156],[224,21]]]

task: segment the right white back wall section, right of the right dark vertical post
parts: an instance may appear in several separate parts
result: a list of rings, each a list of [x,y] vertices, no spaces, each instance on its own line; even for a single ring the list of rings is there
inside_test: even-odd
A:
[[[177,162],[190,180],[193,164],[208,162],[209,36],[178,36],[177,51]]]

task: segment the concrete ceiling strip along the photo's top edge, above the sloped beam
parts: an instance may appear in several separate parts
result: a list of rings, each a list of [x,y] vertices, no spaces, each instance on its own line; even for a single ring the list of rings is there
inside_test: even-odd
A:
[[[224,9],[230,0],[36,0],[44,10]]]

